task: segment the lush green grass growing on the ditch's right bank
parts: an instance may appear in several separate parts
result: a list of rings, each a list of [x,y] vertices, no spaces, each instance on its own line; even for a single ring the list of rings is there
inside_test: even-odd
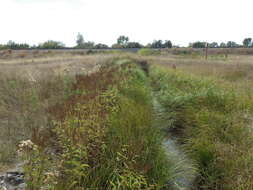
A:
[[[167,110],[169,130],[199,166],[199,189],[253,189],[253,102],[233,89],[153,66],[150,76]]]

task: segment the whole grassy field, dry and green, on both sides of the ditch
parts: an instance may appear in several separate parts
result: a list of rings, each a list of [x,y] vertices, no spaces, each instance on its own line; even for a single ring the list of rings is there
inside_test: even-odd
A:
[[[182,189],[184,161],[162,145],[173,137],[193,162],[189,188],[251,190],[252,61],[150,50],[4,57],[0,170],[31,139],[27,189]]]

